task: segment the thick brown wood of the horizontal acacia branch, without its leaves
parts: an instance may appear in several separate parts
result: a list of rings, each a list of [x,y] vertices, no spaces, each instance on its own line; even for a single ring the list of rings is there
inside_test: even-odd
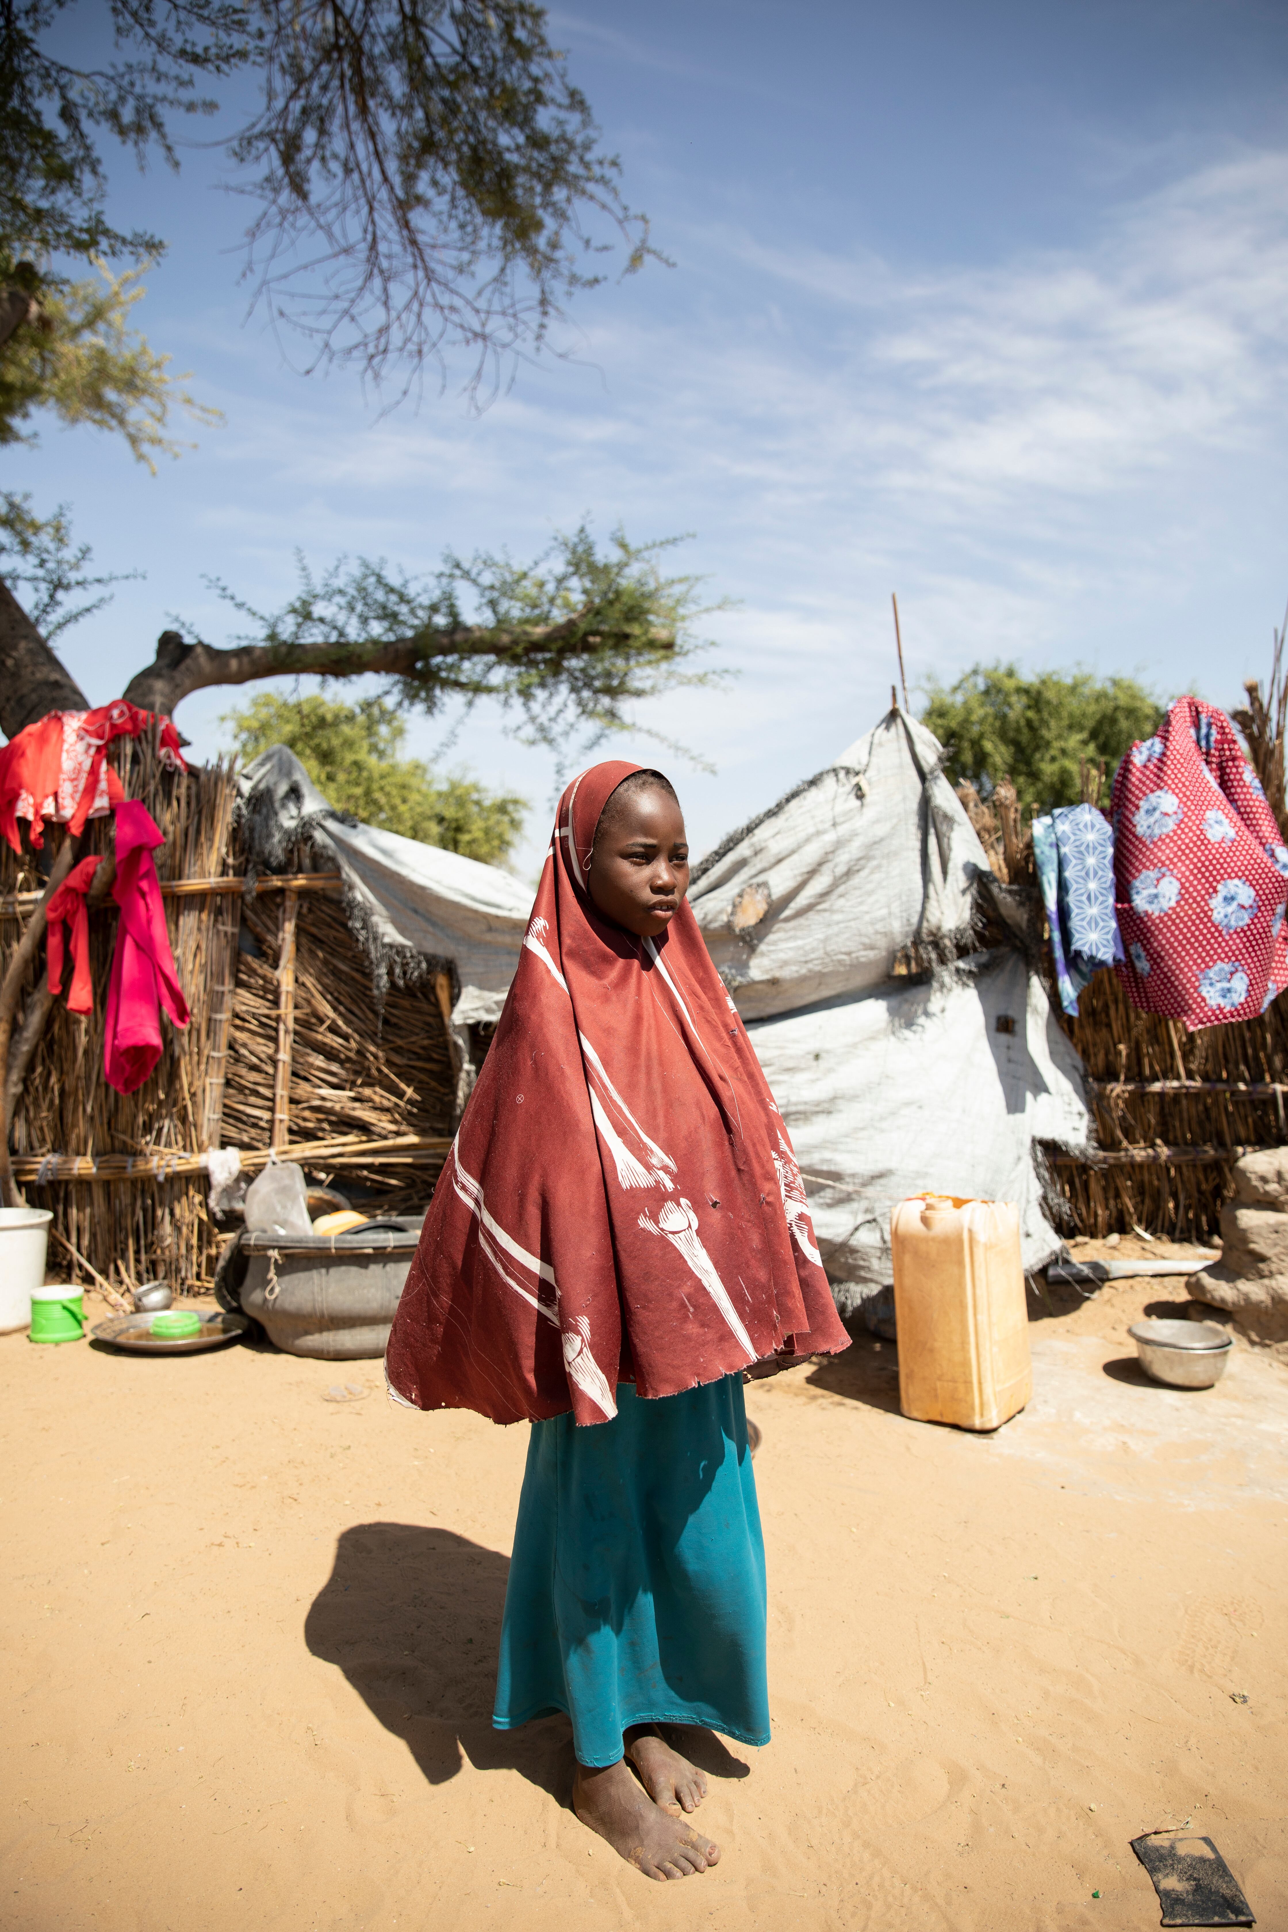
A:
[[[456,624],[448,630],[419,630],[409,638],[241,643],[228,651],[210,643],[185,643],[178,630],[166,630],[156,639],[154,661],[129,680],[122,696],[145,711],[172,713],[180,699],[216,684],[255,684],[280,676],[357,678],[367,672],[415,684],[425,667],[444,657],[543,657],[552,651],[591,655],[616,636],[599,630],[593,614],[585,609],[558,624]],[[674,647],[674,638],[662,632],[653,641],[660,649]]]

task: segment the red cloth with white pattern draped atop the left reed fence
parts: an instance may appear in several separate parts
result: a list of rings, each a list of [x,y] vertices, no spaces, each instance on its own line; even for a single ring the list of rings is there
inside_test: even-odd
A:
[[[50,711],[19,730],[0,750],[0,833],[21,852],[17,819],[31,819],[31,844],[42,844],[44,819],[68,825],[79,838],[87,819],[102,819],[122,798],[122,782],[106,761],[112,738],[137,738],[154,711],[116,697],[97,711]],[[158,719],[158,753],[172,771],[187,771],[174,719]]]

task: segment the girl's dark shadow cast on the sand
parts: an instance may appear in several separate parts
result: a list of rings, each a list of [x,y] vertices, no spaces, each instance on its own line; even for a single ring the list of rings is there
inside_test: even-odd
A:
[[[492,1729],[508,1557],[452,1530],[359,1522],[336,1542],[332,1573],[305,1619],[315,1658],[334,1663],[433,1785],[477,1770],[516,1770],[572,1803],[572,1725],[562,1714]],[[674,1731],[678,1750],[716,1777],[747,1766],[711,1731]]]

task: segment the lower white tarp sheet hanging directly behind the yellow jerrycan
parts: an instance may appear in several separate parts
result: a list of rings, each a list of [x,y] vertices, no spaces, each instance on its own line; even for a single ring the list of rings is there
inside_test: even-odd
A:
[[[1016,1202],[1027,1271],[1060,1252],[1033,1142],[1087,1148],[1089,1119],[1081,1061],[1022,954],[979,952],[751,1022],[747,1037],[842,1314],[892,1283],[890,1209],[923,1190]]]

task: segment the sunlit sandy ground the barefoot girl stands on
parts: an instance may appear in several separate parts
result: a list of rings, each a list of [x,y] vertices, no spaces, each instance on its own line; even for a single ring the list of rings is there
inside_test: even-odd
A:
[[[1193,1820],[1288,1926],[1288,1372],[1143,1381],[1180,1300],[1041,1310],[993,1437],[906,1422],[867,1337],[749,1391],[774,1743],[707,1743],[724,1857],[670,1886],[570,1812],[562,1719],[489,1725],[523,1430],[0,1337],[0,1924],[1110,1932]]]

